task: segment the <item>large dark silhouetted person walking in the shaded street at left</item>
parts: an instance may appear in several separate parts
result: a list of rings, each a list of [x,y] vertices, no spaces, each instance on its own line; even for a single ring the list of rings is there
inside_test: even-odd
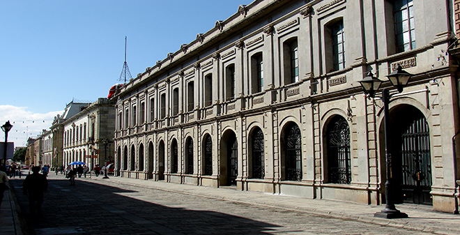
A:
[[[26,176],[22,191],[29,197],[29,211],[31,214],[42,213],[43,192],[48,189],[46,176],[40,174],[40,167],[32,167],[32,174]]]

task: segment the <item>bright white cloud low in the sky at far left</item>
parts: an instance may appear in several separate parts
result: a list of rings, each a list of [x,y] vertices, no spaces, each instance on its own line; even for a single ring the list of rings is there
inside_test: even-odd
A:
[[[63,111],[37,114],[27,111],[28,107],[15,107],[13,105],[0,105],[0,126],[10,121],[13,128],[8,132],[8,142],[15,142],[15,147],[26,146],[29,137],[36,137],[43,129],[49,130],[54,116],[62,115]],[[1,141],[5,141],[5,132],[0,132]]]

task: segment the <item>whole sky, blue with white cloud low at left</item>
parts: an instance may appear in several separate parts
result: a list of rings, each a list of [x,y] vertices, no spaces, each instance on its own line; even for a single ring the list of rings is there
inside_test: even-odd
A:
[[[128,37],[132,77],[252,0],[0,0],[0,125],[25,146],[72,100],[107,97]],[[4,133],[0,133],[4,141]]]

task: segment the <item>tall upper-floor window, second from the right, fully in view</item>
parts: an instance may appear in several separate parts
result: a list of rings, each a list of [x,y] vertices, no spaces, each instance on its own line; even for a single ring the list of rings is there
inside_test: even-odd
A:
[[[344,22],[339,22],[332,25],[332,55],[334,56],[334,70],[345,68],[345,36]]]

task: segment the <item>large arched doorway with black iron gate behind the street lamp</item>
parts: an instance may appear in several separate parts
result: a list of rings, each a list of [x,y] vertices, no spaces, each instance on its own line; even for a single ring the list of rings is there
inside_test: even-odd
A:
[[[429,125],[411,105],[390,110],[392,178],[397,203],[433,204]]]

